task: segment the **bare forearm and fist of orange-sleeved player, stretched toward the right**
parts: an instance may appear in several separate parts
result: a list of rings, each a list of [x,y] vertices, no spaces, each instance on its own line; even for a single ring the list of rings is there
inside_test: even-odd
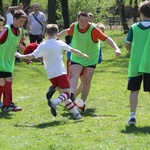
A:
[[[115,54],[116,54],[116,56],[120,56],[121,51],[120,51],[119,47],[117,46],[117,44],[114,42],[114,40],[111,39],[110,37],[107,37],[106,42],[107,42],[113,49],[115,49]]]

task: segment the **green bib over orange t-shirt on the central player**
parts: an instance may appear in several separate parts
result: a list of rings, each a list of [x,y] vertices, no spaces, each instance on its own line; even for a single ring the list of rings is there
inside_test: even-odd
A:
[[[98,63],[100,40],[105,41],[107,35],[90,23],[86,29],[81,30],[79,29],[77,22],[70,26],[68,35],[73,36],[72,47],[79,49],[90,57],[89,60],[85,60],[72,54],[71,61],[79,63],[82,66],[91,66]]]

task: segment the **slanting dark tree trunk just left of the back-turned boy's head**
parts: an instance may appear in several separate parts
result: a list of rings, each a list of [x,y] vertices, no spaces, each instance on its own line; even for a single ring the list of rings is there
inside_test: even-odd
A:
[[[129,31],[129,27],[128,27],[126,15],[125,15],[125,4],[124,4],[125,2],[124,2],[124,0],[117,0],[116,2],[119,7],[121,23],[122,23],[122,27],[123,27],[124,34],[125,34]]]

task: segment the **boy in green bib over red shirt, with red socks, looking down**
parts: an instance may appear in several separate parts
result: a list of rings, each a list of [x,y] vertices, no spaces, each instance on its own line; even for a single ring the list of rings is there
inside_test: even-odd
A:
[[[4,93],[2,111],[22,110],[12,102],[12,73],[15,64],[14,53],[22,46],[19,44],[22,36],[21,27],[26,19],[24,11],[15,10],[13,24],[4,26],[0,32],[0,94]]]

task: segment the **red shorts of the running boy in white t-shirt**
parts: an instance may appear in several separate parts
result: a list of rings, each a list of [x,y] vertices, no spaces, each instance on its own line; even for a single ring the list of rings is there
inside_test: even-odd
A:
[[[66,74],[52,78],[50,81],[54,87],[59,87],[60,89],[70,88],[70,82]]]

